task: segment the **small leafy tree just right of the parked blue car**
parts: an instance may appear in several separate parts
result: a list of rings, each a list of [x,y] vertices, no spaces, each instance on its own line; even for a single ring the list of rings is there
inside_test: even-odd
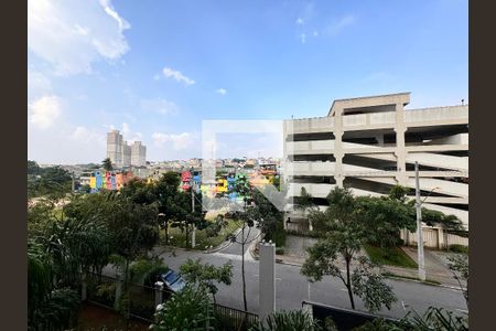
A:
[[[202,264],[201,259],[188,258],[181,265],[181,275],[187,282],[204,287],[212,295],[215,302],[215,295],[218,291],[217,284],[230,285],[233,277],[233,264],[226,263],[220,267],[211,264]]]

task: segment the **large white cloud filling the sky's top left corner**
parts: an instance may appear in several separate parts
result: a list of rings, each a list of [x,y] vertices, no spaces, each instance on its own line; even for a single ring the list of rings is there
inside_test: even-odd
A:
[[[98,60],[121,57],[129,28],[110,0],[28,1],[28,47],[58,75],[89,73]]]

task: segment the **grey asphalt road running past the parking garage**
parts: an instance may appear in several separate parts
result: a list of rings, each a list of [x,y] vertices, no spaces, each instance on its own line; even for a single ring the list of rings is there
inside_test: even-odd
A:
[[[258,235],[258,231],[252,229],[249,239]],[[242,286],[241,286],[241,254],[246,259],[246,281],[248,311],[258,313],[258,270],[259,263],[254,260],[248,252],[248,245],[241,253],[239,244],[231,244],[225,249],[205,254],[200,252],[165,252],[161,254],[165,264],[177,270],[181,264],[187,258],[201,258],[204,263],[223,265],[231,261],[234,266],[233,284],[230,286],[219,286],[216,300],[220,305],[242,309]],[[409,309],[423,312],[429,306],[443,307],[455,312],[467,310],[463,295],[457,289],[442,288],[438,286],[423,285],[412,281],[388,279],[388,284],[393,287],[398,301],[390,311],[380,311],[384,316],[401,318]],[[322,281],[310,284],[300,274],[300,267],[290,265],[276,265],[276,307],[277,309],[300,309],[302,301],[313,301],[335,307],[351,308],[349,298],[345,286],[337,278],[326,277]],[[360,299],[355,298],[357,309],[366,310]]]

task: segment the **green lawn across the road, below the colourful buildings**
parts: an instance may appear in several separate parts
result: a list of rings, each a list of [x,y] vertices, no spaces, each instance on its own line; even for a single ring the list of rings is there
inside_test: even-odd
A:
[[[222,243],[226,241],[226,236],[234,233],[239,228],[239,224],[234,220],[228,220],[228,225],[223,228],[219,234],[215,237],[209,237],[205,233],[204,229],[196,229],[196,247],[193,249],[203,250],[206,246],[217,247]],[[160,231],[161,243],[165,243],[165,231]],[[171,238],[172,237],[172,238]],[[180,248],[186,247],[186,232],[182,232],[179,227],[169,227],[169,245]],[[191,234],[190,234],[190,243],[191,243]]]

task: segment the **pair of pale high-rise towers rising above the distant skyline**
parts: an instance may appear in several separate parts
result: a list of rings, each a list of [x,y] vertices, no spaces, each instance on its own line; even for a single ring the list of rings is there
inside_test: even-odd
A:
[[[141,145],[141,141],[134,141],[129,146],[122,140],[119,130],[111,130],[107,134],[107,158],[117,168],[142,167],[147,164],[147,147]]]

